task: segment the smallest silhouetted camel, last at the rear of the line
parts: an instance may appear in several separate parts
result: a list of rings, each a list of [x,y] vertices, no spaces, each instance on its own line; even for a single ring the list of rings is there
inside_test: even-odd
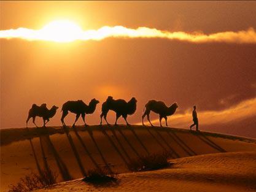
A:
[[[29,112],[28,112],[28,118],[26,119],[26,128],[28,128],[28,121],[31,117],[33,118],[34,125],[36,125],[36,123],[34,121],[36,120],[37,116],[43,118],[44,127],[45,127],[46,123],[48,123],[48,121],[50,121],[50,118],[52,118],[55,115],[58,108],[59,107],[57,107],[57,106],[52,106],[52,108],[49,110],[49,109],[47,109],[45,103],[42,104],[41,106],[37,106],[36,104],[33,104],[31,109],[29,109]],[[36,125],[36,127],[37,127],[37,125]]]

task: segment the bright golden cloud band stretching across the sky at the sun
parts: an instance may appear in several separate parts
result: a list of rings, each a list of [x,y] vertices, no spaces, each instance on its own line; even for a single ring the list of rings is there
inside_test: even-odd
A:
[[[27,28],[9,29],[0,31],[1,39],[48,40],[54,42],[72,42],[74,40],[103,40],[114,38],[161,38],[180,40],[192,43],[225,42],[235,44],[256,44],[254,28],[246,31],[225,31],[212,34],[186,33],[184,31],[162,31],[154,28],[139,27],[137,29],[124,26],[103,26],[97,30],[83,31],[74,23],[52,22],[42,29]]]

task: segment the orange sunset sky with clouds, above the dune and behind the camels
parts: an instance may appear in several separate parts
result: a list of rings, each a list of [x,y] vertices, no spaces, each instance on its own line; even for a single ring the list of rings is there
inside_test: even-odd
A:
[[[1,1],[1,128],[24,127],[33,103],[93,98],[100,103],[85,118],[95,125],[111,95],[136,97],[130,123],[157,99],[177,102],[172,127],[188,128],[196,104],[200,129],[256,137],[255,10],[254,1]],[[56,20],[76,26],[49,25]]]

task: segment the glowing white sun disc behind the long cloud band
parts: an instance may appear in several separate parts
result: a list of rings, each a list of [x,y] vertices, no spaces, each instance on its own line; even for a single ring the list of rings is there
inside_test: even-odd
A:
[[[40,30],[42,39],[55,42],[72,42],[80,39],[83,30],[77,23],[70,20],[55,20]]]

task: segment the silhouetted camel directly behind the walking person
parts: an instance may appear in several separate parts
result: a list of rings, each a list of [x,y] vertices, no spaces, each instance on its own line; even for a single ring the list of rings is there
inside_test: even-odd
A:
[[[144,125],[143,120],[145,115],[147,115],[147,120],[149,120],[150,125],[153,126],[149,119],[149,114],[150,114],[150,111],[152,110],[153,112],[159,114],[160,126],[162,126],[161,124],[162,118],[165,118],[166,126],[168,126],[167,116],[173,115],[176,112],[177,107],[178,106],[176,102],[174,102],[174,104],[172,104],[170,107],[167,107],[163,101],[150,100],[149,102],[147,102],[147,104],[145,104],[145,107],[144,107],[145,112],[142,115],[142,125]]]

